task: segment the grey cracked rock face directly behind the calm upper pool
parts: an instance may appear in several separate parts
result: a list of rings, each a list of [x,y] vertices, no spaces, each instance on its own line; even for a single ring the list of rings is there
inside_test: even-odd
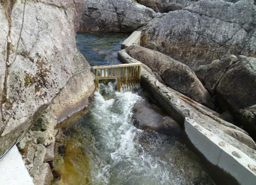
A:
[[[85,0],[80,31],[131,32],[155,17],[155,12],[131,0]]]

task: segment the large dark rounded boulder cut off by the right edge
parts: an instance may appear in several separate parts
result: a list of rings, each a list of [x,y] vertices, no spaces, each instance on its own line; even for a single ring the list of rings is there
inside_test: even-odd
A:
[[[223,110],[231,110],[240,124],[256,135],[256,58],[239,56],[217,86],[217,99]]]

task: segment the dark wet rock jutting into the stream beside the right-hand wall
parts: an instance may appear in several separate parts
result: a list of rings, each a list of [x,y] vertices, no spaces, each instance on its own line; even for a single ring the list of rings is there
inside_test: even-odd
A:
[[[145,99],[140,99],[133,107],[134,124],[139,129],[155,130],[169,136],[182,136],[182,129],[171,117],[164,115],[161,110]]]

